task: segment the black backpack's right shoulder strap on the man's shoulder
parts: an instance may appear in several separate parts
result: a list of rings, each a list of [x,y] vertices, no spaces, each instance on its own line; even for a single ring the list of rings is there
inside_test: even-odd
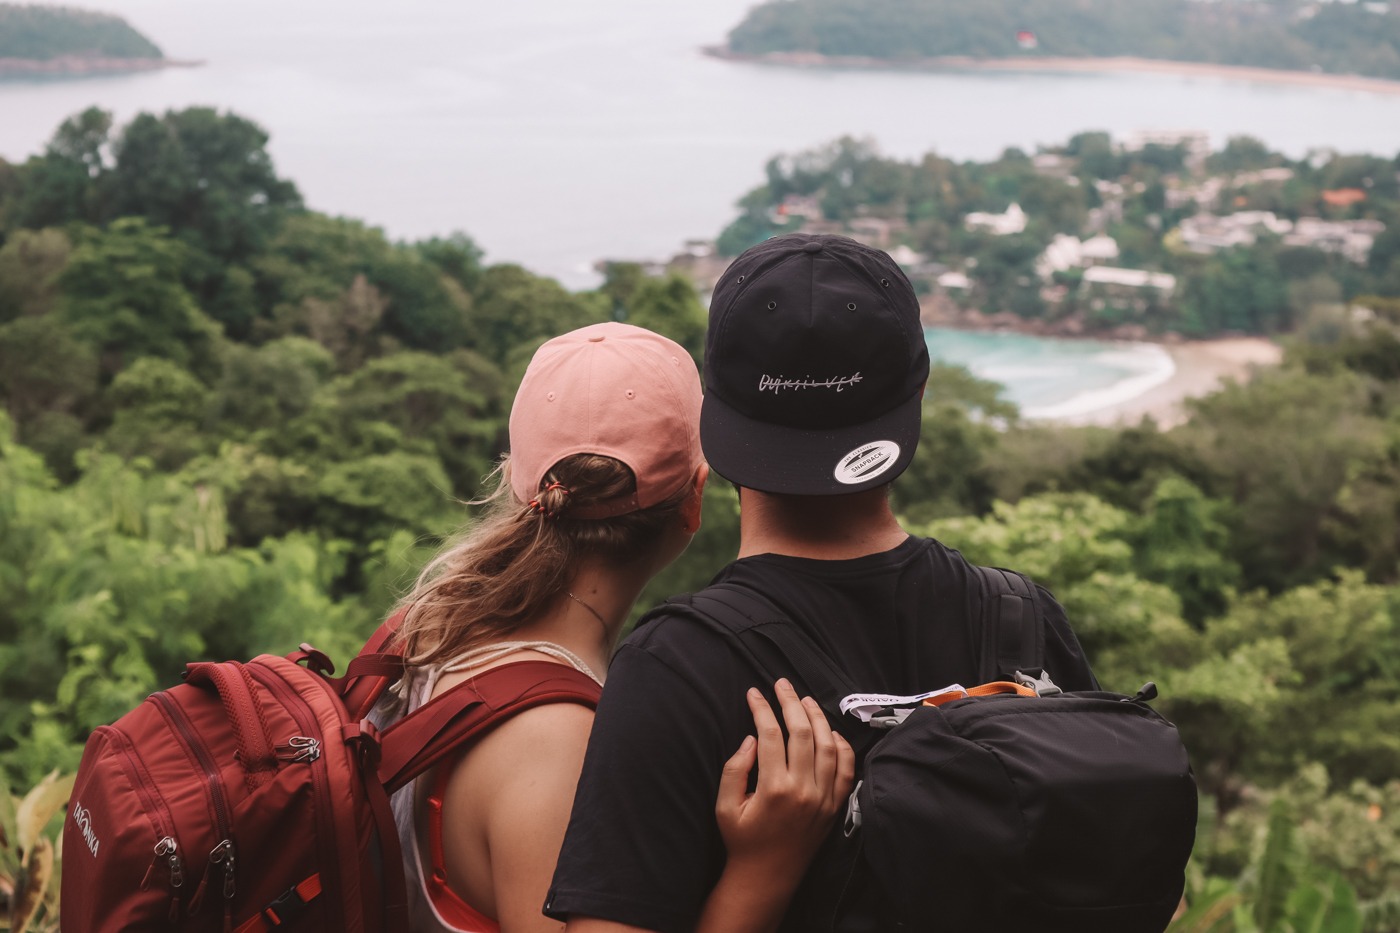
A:
[[[1046,633],[1036,587],[1004,567],[974,567],[983,583],[977,665],[983,682],[1014,679],[1037,693],[1058,693],[1044,670]]]

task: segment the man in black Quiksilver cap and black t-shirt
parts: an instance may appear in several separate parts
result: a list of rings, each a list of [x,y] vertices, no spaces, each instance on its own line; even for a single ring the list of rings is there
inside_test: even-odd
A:
[[[979,574],[956,551],[906,534],[888,502],[918,444],[927,378],[918,300],[885,252],[778,237],[735,259],[715,287],[700,437],[742,511],[739,556],[711,588],[776,607],[869,692],[977,682]],[[1043,590],[1039,600],[1046,668],[1067,691],[1096,686],[1063,609]],[[752,731],[745,691],[774,675],[802,681],[797,665],[760,670],[750,657],[683,612],[662,612],[619,649],[550,916],[570,930],[694,926],[724,864],[714,801],[720,765]],[[848,737],[858,726],[833,723]],[[818,874],[784,930],[816,929],[804,909],[830,894],[816,891],[830,887]]]

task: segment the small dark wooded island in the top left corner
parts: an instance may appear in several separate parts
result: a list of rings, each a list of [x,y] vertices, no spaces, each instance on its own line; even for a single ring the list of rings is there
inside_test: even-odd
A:
[[[197,64],[167,59],[120,17],[0,3],[0,78],[119,74]]]

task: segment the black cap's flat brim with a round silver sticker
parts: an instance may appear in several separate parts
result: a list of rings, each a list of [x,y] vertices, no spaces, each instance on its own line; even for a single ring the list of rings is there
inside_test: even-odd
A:
[[[883,486],[914,459],[923,389],[879,417],[851,427],[812,430],[759,422],[706,394],[700,447],[710,469],[746,489],[791,496],[844,496]],[[862,451],[895,444],[899,452],[865,478],[843,469]],[[889,450],[885,447],[883,450]],[[839,479],[841,474],[844,479]]]

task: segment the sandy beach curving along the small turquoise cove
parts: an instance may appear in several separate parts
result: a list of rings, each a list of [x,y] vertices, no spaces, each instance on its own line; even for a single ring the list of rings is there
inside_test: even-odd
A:
[[[1210,340],[1156,343],[1172,361],[1172,373],[1155,384],[1144,384],[1142,391],[1128,398],[1112,399],[1105,405],[1072,415],[1047,415],[1028,420],[1096,427],[1131,427],[1151,417],[1162,430],[1176,427],[1187,417],[1186,402],[1210,395],[1226,382],[1247,382],[1259,370],[1278,366],[1284,350],[1267,338],[1235,336]],[[1071,399],[1068,405],[1075,401]],[[1089,402],[1092,399],[1082,399]]]

